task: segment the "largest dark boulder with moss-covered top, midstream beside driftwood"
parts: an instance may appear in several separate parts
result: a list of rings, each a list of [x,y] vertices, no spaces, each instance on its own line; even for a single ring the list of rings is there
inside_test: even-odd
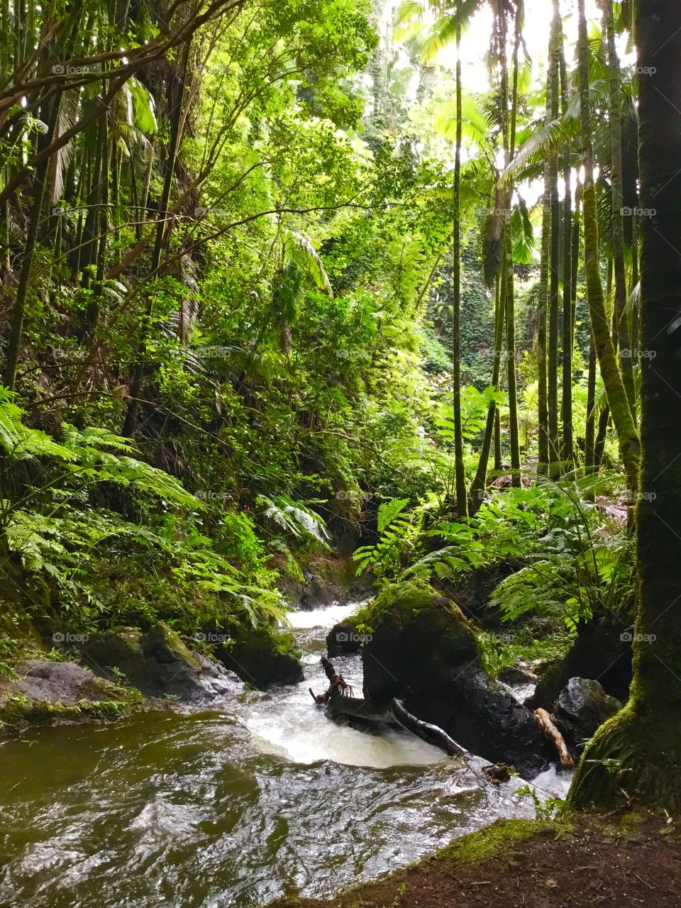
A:
[[[458,606],[411,583],[387,587],[371,609],[362,650],[364,696],[400,697],[474,754],[537,775],[550,757],[532,713],[482,667],[478,642]]]

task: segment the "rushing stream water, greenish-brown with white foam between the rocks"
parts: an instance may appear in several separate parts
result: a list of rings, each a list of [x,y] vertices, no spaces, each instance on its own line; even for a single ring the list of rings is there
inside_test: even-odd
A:
[[[32,730],[0,746],[0,905],[248,908],[328,895],[499,816],[532,815],[407,732],[336,725],[329,628],[356,606],[291,615],[306,682],[211,712]],[[335,660],[360,695],[359,656]],[[555,787],[555,774],[544,780]]]

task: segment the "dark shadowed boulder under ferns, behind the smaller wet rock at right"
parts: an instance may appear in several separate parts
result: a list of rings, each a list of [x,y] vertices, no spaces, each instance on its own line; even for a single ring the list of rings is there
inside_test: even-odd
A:
[[[627,701],[631,686],[631,639],[615,616],[594,618],[581,624],[568,655],[542,673],[534,694],[526,701],[530,709],[550,711],[570,678],[597,678],[617,700]]]

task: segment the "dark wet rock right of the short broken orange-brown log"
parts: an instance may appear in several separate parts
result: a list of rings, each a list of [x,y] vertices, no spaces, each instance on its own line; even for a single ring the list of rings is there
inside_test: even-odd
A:
[[[568,747],[579,755],[587,738],[621,708],[619,700],[609,696],[597,681],[570,678],[553,705],[553,716]]]

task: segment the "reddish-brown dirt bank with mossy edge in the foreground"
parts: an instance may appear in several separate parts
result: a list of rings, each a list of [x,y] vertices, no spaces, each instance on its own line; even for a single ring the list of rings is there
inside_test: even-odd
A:
[[[499,821],[375,883],[278,908],[681,908],[675,827],[665,814],[626,824],[613,817]]]

